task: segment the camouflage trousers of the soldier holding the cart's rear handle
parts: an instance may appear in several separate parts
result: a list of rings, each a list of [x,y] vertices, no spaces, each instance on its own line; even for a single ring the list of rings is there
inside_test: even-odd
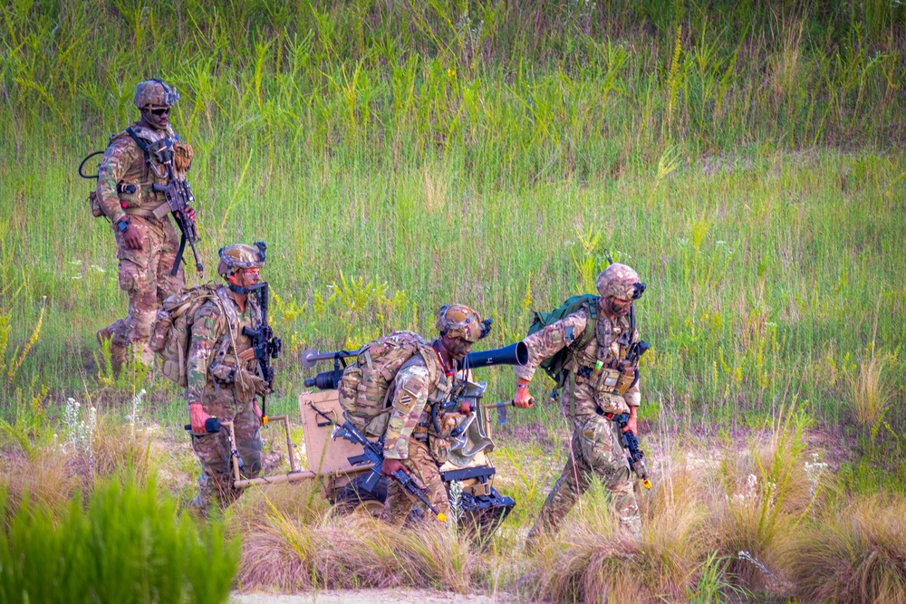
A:
[[[208,385],[202,396],[207,415],[221,421],[232,420],[236,442],[230,446],[229,429],[217,434],[192,436],[192,448],[201,462],[198,497],[191,505],[207,512],[211,503],[226,508],[242,494],[233,486],[232,452],[239,455],[239,472],[243,478],[255,478],[261,472],[261,420],[252,403],[239,403],[232,388],[215,390]]]

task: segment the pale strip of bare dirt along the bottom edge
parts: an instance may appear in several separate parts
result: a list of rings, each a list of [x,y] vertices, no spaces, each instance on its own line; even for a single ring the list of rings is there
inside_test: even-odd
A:
[[[316,591],[292,596],[252,593],[234,594],[231,604],[390,604],[391,602],[419,602],[419,604],[493,604],[508,601],[485,595],[462,595],[448,591],[429,590],[339,590]]]

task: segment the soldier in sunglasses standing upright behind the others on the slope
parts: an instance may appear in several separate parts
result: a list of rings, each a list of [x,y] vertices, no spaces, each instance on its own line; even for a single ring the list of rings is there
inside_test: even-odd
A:
[[[135,359],[149,365],[154,355],[148,340],[161,302],[185,284],[182,268],[170,274],[176,261],[179,238],[166,217],[169,211],[163,193],[152,185],[166,185],[169,175],[158,156],[141,149],[173,145],[173,167],[185,177],[191,166],[192,149],[179,142],[169,125],[169,110],[178,101],[176,89],[162,81],[142,81],[133,102],[141,119],[111,138],[98,170],[97,203],[113,225],[120,289],[129,296],[129,312],[98,331],[98,340],[111,340],[111,360],[119,369],[132,350]],[[188,218],[195,210],[188,208]]]

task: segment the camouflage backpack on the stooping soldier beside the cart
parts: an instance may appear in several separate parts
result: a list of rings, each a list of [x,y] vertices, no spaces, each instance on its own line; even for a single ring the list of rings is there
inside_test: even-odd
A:
[[[390,422],[390,382],[416,354],[425,359],[429,371],[434,367],[428,340],[412,331],[393,331],[366,344],[355,362],[343,370],[337,387],[340,406],[361,431],[383,436]]]

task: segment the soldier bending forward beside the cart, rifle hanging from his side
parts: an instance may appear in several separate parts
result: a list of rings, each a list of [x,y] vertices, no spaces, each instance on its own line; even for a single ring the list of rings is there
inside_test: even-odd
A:
[[[433,355],[413,355],[406,361],[390,384],[390,422],[384,433],[384,463],[381,472],[393,475],[403,470],[424,484],[428,500],[439,512],[449,516],[449,500],[439,468],[447,461],[448,437],[457,426],[459,413],[444,414],[439,404],[448,398],[456,379],[455,362],[462,360],[472,344],[481,338],[482,326],[478,313],[467,306],[444,306],[438,313],[435,327],[439,337],[431,342]],[[431,408],[438,406],[437,422]],[[387,486],[387,499],[381,520],[402,524],[416,498],[395,480]]]

